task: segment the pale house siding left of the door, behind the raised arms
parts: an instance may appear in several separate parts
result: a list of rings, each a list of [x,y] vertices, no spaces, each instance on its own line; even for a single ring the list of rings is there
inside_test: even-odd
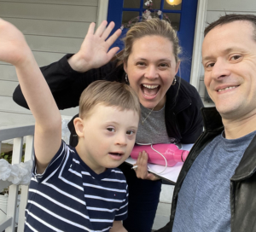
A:
[[[106,19],[107,8],[108,0],[0,0],[0,17],[24,33],[41,67],[77,52],[90,22]],[[34,121],[29,110],[13,102],[17,84],[15,67],[0,62],[0,127]],[[78,111],[76,107],[61,114]]]

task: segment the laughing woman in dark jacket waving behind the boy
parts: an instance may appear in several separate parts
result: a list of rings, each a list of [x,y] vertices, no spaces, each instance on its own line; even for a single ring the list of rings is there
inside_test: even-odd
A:
[[[142,107],[137,143],[194,143],[202,132],[203,105],[195,88],[176,77],[180,47],[172,26],[160,19],[132,26],[123,54],[115,61],[110,60],[118,48],[108,49],[121,32],[108,38],[114,25],[106,26],[103,21],[94,32],[92,23],[77,54],[41,68],[58,107],[77,107],[84,88],[97,79],[125,82],[137,92]],[[14,100],[27,107],[19,86]],[[136,172],[129,165],[119,167],[130,191],[124,226],[131,232],[151,231],[160,198],[161,182],[148,174],[147,159],[147,154],[140,155]]]

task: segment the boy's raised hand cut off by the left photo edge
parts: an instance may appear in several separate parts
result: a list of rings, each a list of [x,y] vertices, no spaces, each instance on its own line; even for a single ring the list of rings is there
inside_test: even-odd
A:
[[[32,55],[23,34],[9,22],[0,19],[0,61],[15,67]]]

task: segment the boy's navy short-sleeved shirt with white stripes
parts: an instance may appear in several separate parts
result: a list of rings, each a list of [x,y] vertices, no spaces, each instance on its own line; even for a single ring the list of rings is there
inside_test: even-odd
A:
[[[25,231],[108,231],[127,217],[128,187],[119,169],[96,174],[61,143],[43,174],[34,165]]]

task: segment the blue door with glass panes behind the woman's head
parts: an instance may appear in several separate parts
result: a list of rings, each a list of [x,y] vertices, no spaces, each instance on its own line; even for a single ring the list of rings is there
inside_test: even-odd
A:
[[[193,54],[194,33],[195,33],[195,17],[197,9],[197,0],[109,0],[108,3],[108,22],[114,21],[117,30],[122,25],[127,25],[130,20],[143,16],[147,6],[145,3],[152,3],[151,11],[160,10],[160,18],[167,18],[177,30],[180,45],[183,49],[181,55],[181,67],[179,73],[181,78],[189,82],[191,71],[191,60]],[[122,38],[127,32],[127,28],[123,29]],[[113,44],[124,48],[123,42],[119,39]]]

